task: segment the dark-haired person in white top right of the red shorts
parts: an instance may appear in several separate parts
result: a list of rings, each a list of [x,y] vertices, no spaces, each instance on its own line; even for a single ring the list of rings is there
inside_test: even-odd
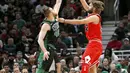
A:
[[[111,64],[116,64],[116,63],[118,63],[118,57],[115,55],[115,53],[113,53],[113,51],[112,51],[112,49],[111,48],[106,48],[105,49],[105,52],[104,52],[104,54],[102,54],[101,56],[100,56],[100,65],[102,65],[102,61],[103,61],[103,59],[104,58],[110,58],[110,62],[111,62]]]

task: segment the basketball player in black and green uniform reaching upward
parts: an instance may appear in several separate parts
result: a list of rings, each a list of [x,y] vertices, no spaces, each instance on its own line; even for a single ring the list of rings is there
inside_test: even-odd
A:
[[[59,24],[56,21],[62,0],[56,0],[54,8],[43,6],[45,19],[41,23],[38,36],[38,44],[41,53],[38,58],[38,69],[36,73],[50,73],[52,71],[61,73],[61,65],[55,52],[55,42],[59,36]],[[56,67],[55,67],[56,65]]]

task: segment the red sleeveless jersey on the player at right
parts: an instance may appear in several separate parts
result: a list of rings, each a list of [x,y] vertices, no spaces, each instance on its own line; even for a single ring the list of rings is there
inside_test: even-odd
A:
[[[102,40],[101,17],[99,14],[91,14],[88,17],[92,15],[97,15],[100,21],[98,24],[94,24],[93,22],[90,22],[87,25],[85,25],[86,37],[88,38],[88,40],[93,40],[93,39]]]

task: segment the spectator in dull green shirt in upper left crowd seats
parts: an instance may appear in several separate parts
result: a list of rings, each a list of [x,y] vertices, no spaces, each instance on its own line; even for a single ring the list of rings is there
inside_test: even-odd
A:
[[[13,21],[13,24],[17,24],[19,30],[26,24],[26,21],[21,18],[20,13],[16,14],[16,19]]]

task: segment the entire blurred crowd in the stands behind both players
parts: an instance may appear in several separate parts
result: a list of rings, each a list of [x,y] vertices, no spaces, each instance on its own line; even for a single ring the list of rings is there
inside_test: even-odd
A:
[[[35,73],[39,45],[37,35],[43,5],[53,7],[55,0],[1,0],[0,1],[0,73]],[[82,19],[87,16],[79,0],[63,0],[60,17]],[[115,30],[105,52],[100,57],[98,73],[130,73],[129,58],[118,60],[112,50],[129,50],[130,13],[124,16]],[[81,55],[88,43],[84,25],[60,23],[60,37],[55,46],[60,53],[62,73],[80,73]],[[76,48],[76,55],[68,48]]]

